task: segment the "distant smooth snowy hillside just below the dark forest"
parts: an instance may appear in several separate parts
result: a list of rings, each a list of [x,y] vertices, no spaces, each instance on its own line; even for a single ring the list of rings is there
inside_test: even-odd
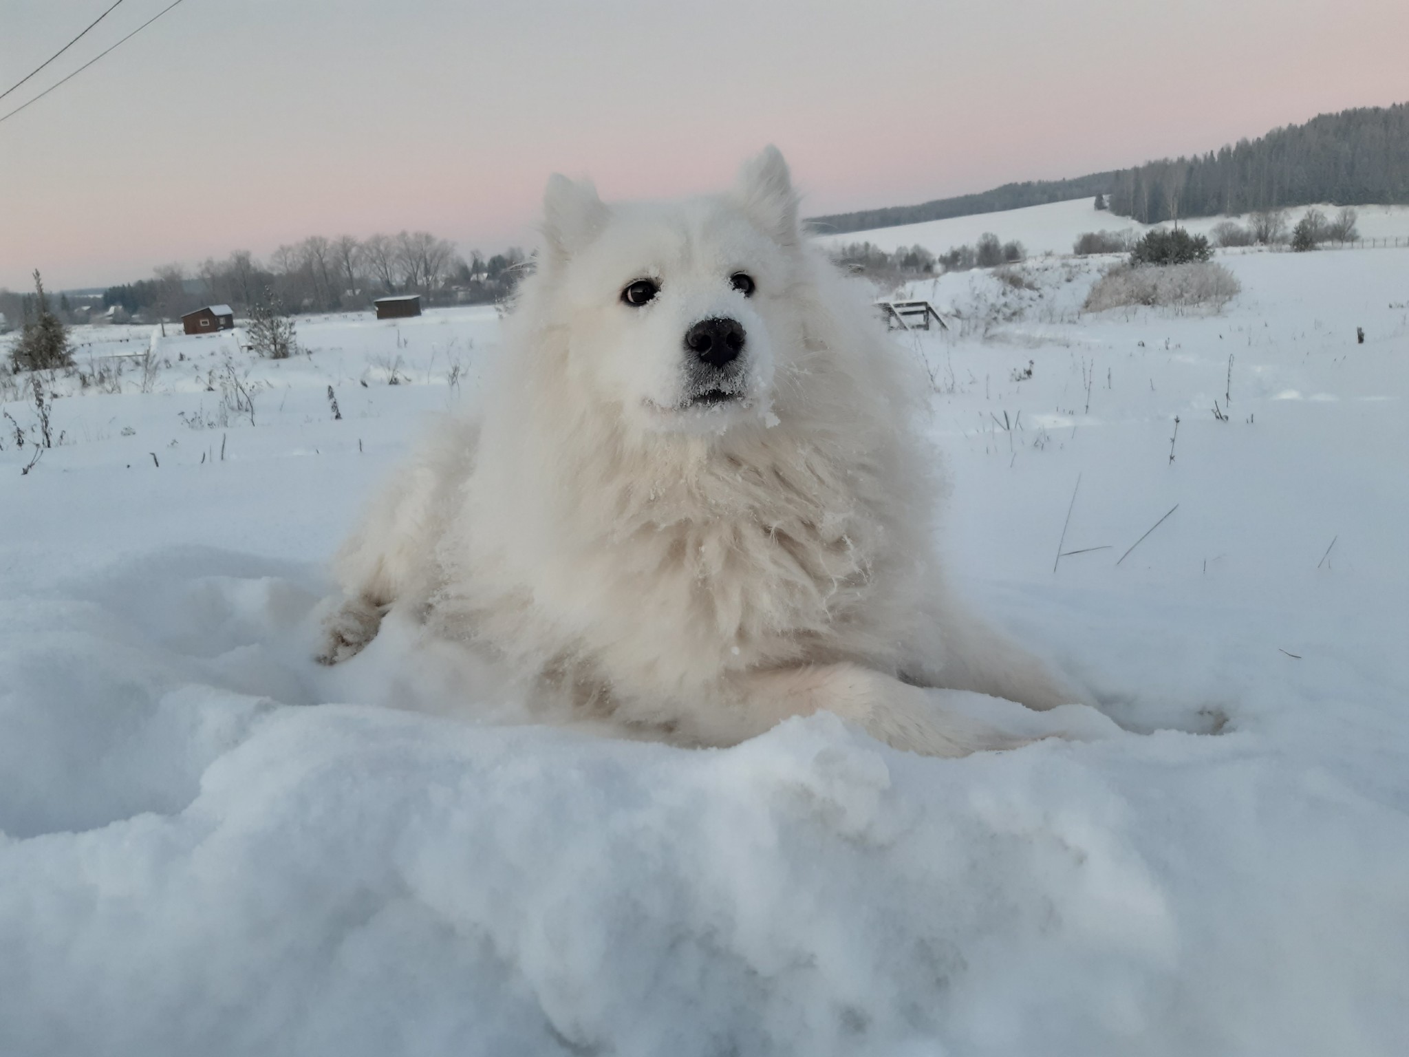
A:
[[[1289,225],[1301,220],[1308,207],[1286,211]],[[1337,206],[1322,204],[1329,217],[1334,217]],[[1357,206],[1360,220],[1357,228],[1361,238],[1409,238],[1409,206]],[[1224,220],[1247,223],[1247,217],[1193,217],[1181,220],[1196,235],[1206,235],[1215,224]],[[921,245],[931,254],[943,254],[954,247],[974,245],[985,231],[992,231],[1005,242],[1019,240],[1029,255],[1069,254],[1076,238],[1086,231],[1148,231],[1155,224],[1141,224],[1130,217],[1117,217],[1109,210],[1098,210],[1095,199],[1072,199],[1047,206],[1010,209],[1002,213],[978,213],[968,217],[930,220],[923,224],[902,224],[874,231],[848,231],[841,235],[821,235],[824,245],[845,245],[848,242],[871,242],[886,252],[900,247]]]

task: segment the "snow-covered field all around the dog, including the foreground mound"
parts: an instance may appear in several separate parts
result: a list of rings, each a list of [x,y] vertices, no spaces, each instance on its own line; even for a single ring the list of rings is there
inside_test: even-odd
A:
[[[917,290],[958,583],[1113,720],[958,761],[533,727],[406,629],[314,665],[493,310],[80,333],[62,445],[0,419],[0,1053],[1409,1053],[1409,249],[1224,259],[1213,316]]]

